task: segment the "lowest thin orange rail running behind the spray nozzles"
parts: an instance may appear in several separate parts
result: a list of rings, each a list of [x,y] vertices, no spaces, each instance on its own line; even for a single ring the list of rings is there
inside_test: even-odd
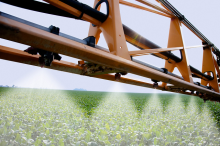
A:
[[[21,50],[17,50],[17,49],[5,47],[5,46],[0,46],[0,59],[40,67],[39,62],[38,62],[38,58],[39,58],[39,55],[31,55],[31,54],[28,54],[27,52],[24,52]],[[81,75],[83,72],[82,67],[78,66],[77,64],[67,62],[67,61],[54,60],[52,62],[52,66],[50,66],[50,67],[45,66],[45,68],[74,73],[74,74],[79,74],[79,75]],[[110,75],[110,74],[88,76],[88,77],[94,77],[94,78],[105,79],[105,80],[109,80],[109,81],[115,81],[115,76]],[[121,77],[121,79],[118,82],[141,86],[141,87],[153,88],[153,84],[151,84],[151,83],[137,81],[137,80],[129,79],[129,78],[125,78],[125,77]],[[162,87],[158,87],[157,89],[163,90]]]

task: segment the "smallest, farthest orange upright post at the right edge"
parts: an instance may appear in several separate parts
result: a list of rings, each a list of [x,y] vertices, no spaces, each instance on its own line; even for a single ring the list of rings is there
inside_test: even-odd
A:
[[[212,72],[214,79],[211,81],[205,81],[201,79],[201,84],[207,86],[209,84],[216,92],[219,92],[219,85],[217,74],[215,71],[215,63],[214,63],[212,49],[211,47],[203,48],[203,62],[202,62],[202,73]]]

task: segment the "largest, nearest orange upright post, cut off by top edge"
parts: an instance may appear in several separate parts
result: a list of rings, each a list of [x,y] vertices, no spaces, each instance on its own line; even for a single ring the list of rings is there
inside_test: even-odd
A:
[[[97,2],[98,0],[95,0],[94,6]],[[119,0],[108,0],[108,2],[108,18],[99,27],[93,27],[90,25],[89,36],[93,35],[96,39],[98,39],[100,37],[100,33],[102,32],[111,53],[131,60],[121,22]]]

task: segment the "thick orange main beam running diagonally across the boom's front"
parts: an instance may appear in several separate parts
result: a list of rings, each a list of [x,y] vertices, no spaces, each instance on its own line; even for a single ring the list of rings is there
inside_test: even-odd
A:
[[[210,97],[210,99],[220,97],[219,93],[212,90],[161,73],[160,71],[111,53],[95,49],[2,16],[0,16],[0,31],[0,37],[4,39],[16,41],[50,52],[64,54],[70,57],[80,58],[88,62],[166,82],[188,90],[206,93],[207,97]]]

